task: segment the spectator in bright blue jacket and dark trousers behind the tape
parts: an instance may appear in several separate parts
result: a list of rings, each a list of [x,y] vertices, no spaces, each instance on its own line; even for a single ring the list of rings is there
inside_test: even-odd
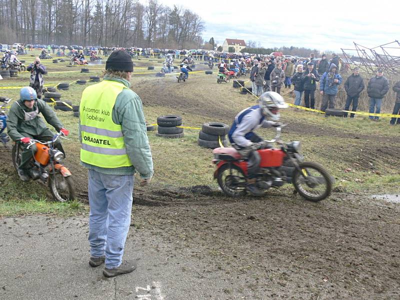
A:
[[[335,73],[336,69],[336,65],[331,63],[329,71],[324,72],[319,81],[319,91],[322,95],[321,111],[325,111],[326,108],[334,108],[337,85],[343,80],[339,74]]]

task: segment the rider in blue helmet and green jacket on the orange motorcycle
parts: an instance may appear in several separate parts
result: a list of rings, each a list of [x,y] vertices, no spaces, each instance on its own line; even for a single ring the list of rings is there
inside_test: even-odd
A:
[[[24,86],[19,95],[19,100],[15,101],[8,111],[7,133],[13,141],[21,143],[23,151],[18,166],[18,175],[22,181],[28,181],[29,161],[37,148],[34,144],[27,148],[27,144],[31,139],[49,141],[54,136],[54,133],[46,127],[38,114],[41,112],[45,120],[58,132],[68,135],[69,130],[64,128],[55,112],[46,102],[37,99],[36,91],[33,88]],[[55,141],[54,147],[65,155],[59,140]]]

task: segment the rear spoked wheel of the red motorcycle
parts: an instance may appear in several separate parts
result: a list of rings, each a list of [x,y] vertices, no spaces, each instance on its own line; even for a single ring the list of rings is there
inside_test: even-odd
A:
[[[246,193],[246,177],[236,165],[228,163],[222,165],[216,178],[222,191],[232,197],[243,196]]]

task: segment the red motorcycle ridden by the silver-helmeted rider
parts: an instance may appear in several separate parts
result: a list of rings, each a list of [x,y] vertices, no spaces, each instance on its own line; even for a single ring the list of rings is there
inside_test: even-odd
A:
[[[318,163],[303,161],[299,153],[301,143],[280,140],[281,127],[268,143],[277,143],[277,148],[257,150],[260,157],[260,172],[256,177],[256,185],[260,190],[279,187],[284,183],[292,183],[295,192],[310,201],[320,201],[329,196],[334,178]],[[212,153],[216,164],[214,178],[219,187],[228,196],[243,196],[246,193],[247,162],[232,147],[215,148]]]

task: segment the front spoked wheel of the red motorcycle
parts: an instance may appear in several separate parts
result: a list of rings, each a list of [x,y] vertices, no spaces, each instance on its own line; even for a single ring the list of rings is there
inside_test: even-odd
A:
[[[294,169],[292,182],[302,197],[317,202],[330,195],[333,183],[323,166],[315,162],[302,162],[299,167],[301,173]]]

